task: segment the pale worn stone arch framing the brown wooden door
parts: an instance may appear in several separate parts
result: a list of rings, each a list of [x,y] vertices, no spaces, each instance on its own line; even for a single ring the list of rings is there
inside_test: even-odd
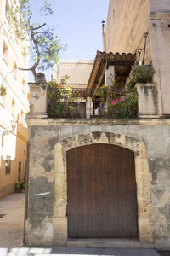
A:
[[[66,137],[54,147],[54,244],[64,245],[67,242],[67,183],[66,152],[72,148],[93,143],[109,143],[134,152],[135,176],[137,183],[139,241],[151,242],[150,233],[150,182],[146,147],[142,141],[123,134],[95,131]]]

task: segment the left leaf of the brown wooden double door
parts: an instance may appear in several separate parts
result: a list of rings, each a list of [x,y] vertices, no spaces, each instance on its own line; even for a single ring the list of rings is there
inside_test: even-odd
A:
[[[100,237],[100,175],[98,146],[67,153],[68,234],[71,238]]]

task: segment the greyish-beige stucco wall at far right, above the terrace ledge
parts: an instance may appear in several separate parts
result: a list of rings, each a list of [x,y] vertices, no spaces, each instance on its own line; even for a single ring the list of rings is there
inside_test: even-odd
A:
[[[150,30],[159,114],[170,115],[170,2],[150,0]]]

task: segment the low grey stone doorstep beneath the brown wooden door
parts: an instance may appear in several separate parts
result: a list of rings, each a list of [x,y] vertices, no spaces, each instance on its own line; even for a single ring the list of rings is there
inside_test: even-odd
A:
[[[130,238],[89,238],[67,240],[67,247],[91,247],[91,248],[153,248],[153,244],[141,243],[138,239]]]

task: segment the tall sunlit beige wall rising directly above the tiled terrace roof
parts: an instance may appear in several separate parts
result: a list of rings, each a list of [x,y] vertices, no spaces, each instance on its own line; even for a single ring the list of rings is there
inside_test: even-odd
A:
[[[105,31],[106,52],[135,53],[144,48],[144,32],[150,33],[149,13],[148,0],[111,0]],[[146,63],[149,63],[150,34],[146,53]]]

